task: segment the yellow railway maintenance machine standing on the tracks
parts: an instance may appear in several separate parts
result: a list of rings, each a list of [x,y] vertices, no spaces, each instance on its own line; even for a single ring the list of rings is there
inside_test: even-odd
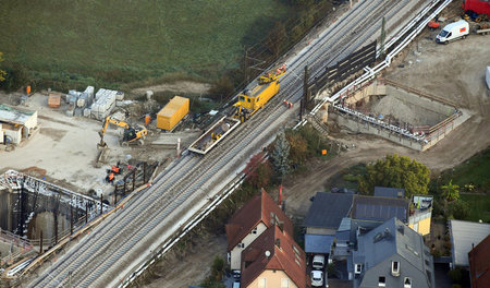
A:
[[[250,83],[242,94],[238,95],[238,101],[233,118],[245,122],[258,109],[262,108],[279,92],[279,79],[286,72],[285,64],[278,68],[275,72],[269,72],[261,75],[258,80]]]

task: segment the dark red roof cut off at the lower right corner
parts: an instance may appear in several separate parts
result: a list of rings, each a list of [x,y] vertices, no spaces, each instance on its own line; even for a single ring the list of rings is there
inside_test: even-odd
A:
[[[490,287],[490,235],[468,253],[473,288]]]

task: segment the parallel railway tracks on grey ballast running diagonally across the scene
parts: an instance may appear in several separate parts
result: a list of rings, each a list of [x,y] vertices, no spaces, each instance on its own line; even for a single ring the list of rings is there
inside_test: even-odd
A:
[[[420,1],[427,2],[427,1]],[[225,178],[246,164],[250,153],[280,130],[287,116],[282,100],[297,101],[302,96],[304,65],[311,77],[328,64],[359,48],[381,23],[393,17],[408,1],[365,0],[335,26],[329,28],[308,51],[289,62],[289,71],[278,94],[261,111],[240,125],[205,156],[185,154],[157,177],[152,187],[142,191],[121,211],[83,238],[44,272],[29,287],[108,287],[125,277],[138,264],[139,254],[163,233],[182,226],[182,216]],[[367,29],[363,27],[368,27]],[[147,251],[146,251],[147,252]],[[122,267],[121,267],[122,266]]]

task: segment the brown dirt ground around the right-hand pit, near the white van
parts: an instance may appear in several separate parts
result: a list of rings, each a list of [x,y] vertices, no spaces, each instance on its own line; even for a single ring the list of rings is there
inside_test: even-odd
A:
[[[384,76],[456,101],[460,108],[474,112],[471,118],[436,146],[421,153],[370,135],[330,135],[356,147],[330,161],[314,161],[304,177],[286,181],[286,209],[291,214],[304,216],[310,205],[309,199],[316,192],[324,191],[332,176],[358,163],[369,163],[396,153],[417,159],[433,172],[439,172],[490,145],[490,96],[485,85],[485,68],[490,65],[490,37],[470,35],[464,40],[437,45],[432,40],[434,34],[427,31],[419,36],[418,44],[413,44],[404,56],[395,59]],[[414,52],[417,47],[418,52]]]

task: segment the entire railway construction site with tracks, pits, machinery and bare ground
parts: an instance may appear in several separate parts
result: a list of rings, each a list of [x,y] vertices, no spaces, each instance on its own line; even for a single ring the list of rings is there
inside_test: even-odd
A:
[[[131,285],[240,187],[245,164],[284,127],[311,124],[356,147],[287,187],[287,211],[297,215],[323,189],[318,179],[354,159],[400,153],[442,170],[489,146],[490,37],[473,33],[437,44],[440,29],[429,29],[427,22],[436,14],[442,26],[456,20],[460,7],[451,1],[368,2],[342,5],[324,32],[298,44],[232,106],[197,123],[185,91],[164,106],[149,88],[0,92],[2,278],[33,287]],[[376,41],[383,9],[400,14],[390,14],[381,48]],[[368,12],[376,16],[365,17]],[[359,34],[346,37],[346,31]],[[369,40],[371,50],[365,46]],[[322,58],[327,49],[339,52]],[[348,63],[345,71],[355,70],[348,75],[332,72],[353,56],[364,57],[366,65]],[[309,79],[302,80],[306,63]],[[223,245],[217,240],[194,256],[210,261]],[[91,256],[97,251],[106,254]],[[160,265],[169,275],[179,265],[173,257]],[[191,277],[203,277],[203,266],[186,262],[195,271]],[[187,287],[183,281],[175,274],[155,285]]]

